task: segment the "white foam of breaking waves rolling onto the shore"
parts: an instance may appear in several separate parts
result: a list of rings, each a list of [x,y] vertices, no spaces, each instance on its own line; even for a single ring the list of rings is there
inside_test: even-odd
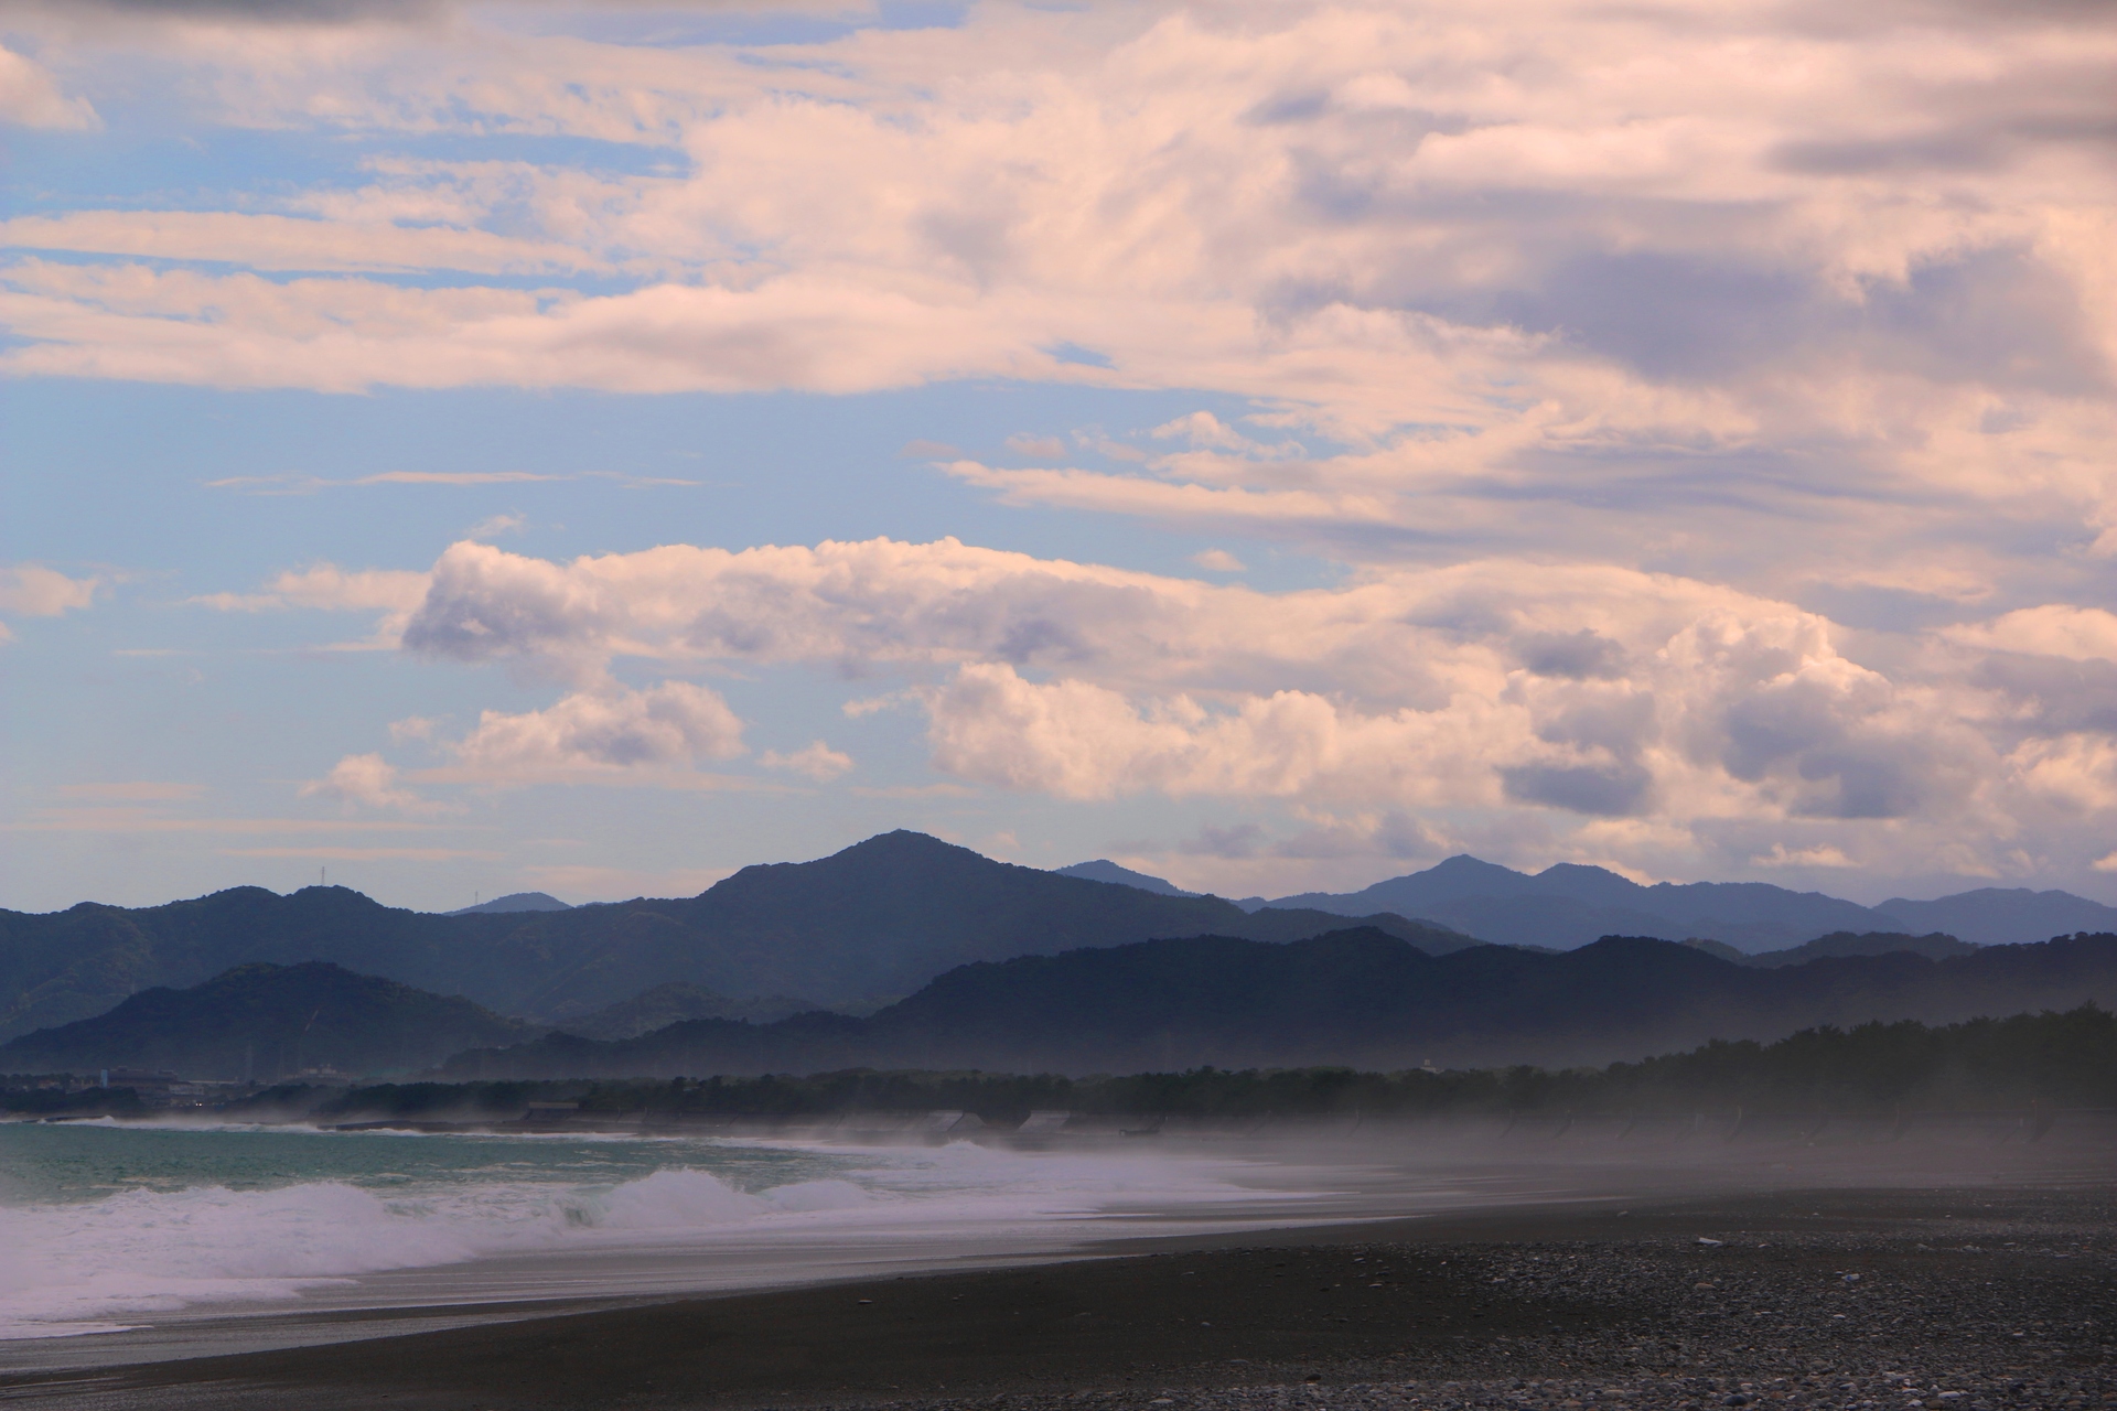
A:
[[[665,1250],[730,1235],[790,1248],[906,1231],[951,1240],[1078,1218],[1135,1193],[1152,1191],[1158,1202],[1249,1195],[1222,1163],[972,1144],[868,1149],[857,1159],[864,1168],[847,1178],[758,1191],[667,1166],[610,1187],[474,1178],[375,1193],[311,1180],[0,1206],[0,1339],[108,1331],[199,1303],[282,1301],[364,1273],[491,1254]]]

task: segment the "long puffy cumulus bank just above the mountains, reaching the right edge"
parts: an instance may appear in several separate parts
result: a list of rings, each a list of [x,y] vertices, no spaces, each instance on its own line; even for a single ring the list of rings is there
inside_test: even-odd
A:
[[[955,539],[569,563],[464,542],[436,561],[404,649],[576,679],[567,711],[605,709],[618,660],[900,673],[849,713],[912,704],[944,774],[1368,819],[1317,825],[1332,857],[1397,846],[1378,819],[1408,819],[1391,827],[1429,846],[1435,819],[1473,838],[1537,814],[1548,840],[1626,865],[1685,846],[1753,865],[1789,840],[1795,861],[1774,865],[1825,846],[1912,865],[1950,846],[1994,869],[2028,831],[2077,848],[2083,810],[2117,810],[2117,749],[2081,745],[2117,732],[2096,723],[2100,677],[2009,673],[2039,658],[1973,649],[1954,628],[1869,637],[1874,660],[1846,637],[1700,580],[1520,558],[1266,592]],[[722,738],[739,749],[732,728]]]

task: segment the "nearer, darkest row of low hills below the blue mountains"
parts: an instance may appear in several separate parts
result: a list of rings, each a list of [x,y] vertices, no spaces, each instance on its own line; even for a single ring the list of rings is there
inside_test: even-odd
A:
[[[1931,954],[1886,950],[1899,941]],[[1579,1066],[1819,1024],[1948,1024],[2087,1001],[2117,1001],[2117,935],[1990,948],[1825,937],[1774,956],[1643,937],[1429,956],[1374,927],[1289,943],[1207,935],[963,965],[870,1018],[730,1005],[667,984],[559,1030],[311,960],[133,994],[0,1045],[0,1073],[140,1066],[275,1081],[315,1064],[404,1075],[445,1058],[462,1079]]]

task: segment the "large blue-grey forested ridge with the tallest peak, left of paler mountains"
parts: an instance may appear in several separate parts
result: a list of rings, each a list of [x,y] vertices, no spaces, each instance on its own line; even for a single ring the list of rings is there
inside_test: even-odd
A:
[[[1473,943],[1397,916],[1370,920],[1433,952]],[[434,916],[343,886],[290,897],[239,886],[142,910],[0,912],[0,1039],[252,960],[330,960],[544,1018],[669,982],[849,1005],[910,994],[970,960],[1164,935],[1291,941],[1344,924],[1321,912],[1251,916],[1219,897],[1160,897],[1014,867],[906,831],[811,863],[745,867],[696,897],[559,912]]]

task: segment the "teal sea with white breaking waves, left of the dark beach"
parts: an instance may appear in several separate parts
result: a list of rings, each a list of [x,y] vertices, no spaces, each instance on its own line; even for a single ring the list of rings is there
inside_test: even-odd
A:
[[[0,1339],[934,1267],[1298,1221],[1304,1185],[1122,1149],[4,1123]]]

